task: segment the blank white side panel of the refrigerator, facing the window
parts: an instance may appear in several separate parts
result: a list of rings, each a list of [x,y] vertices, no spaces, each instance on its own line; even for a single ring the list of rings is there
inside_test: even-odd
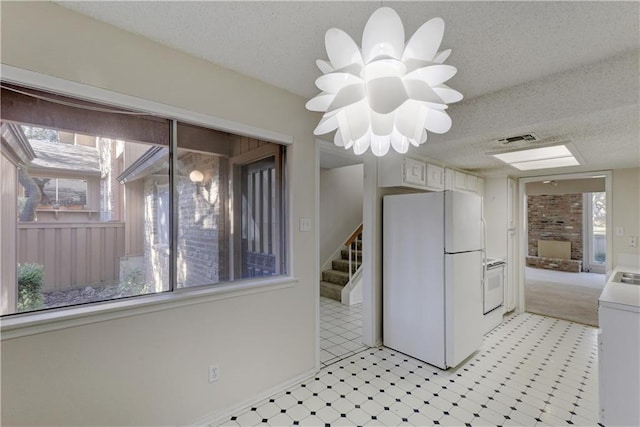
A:
[[[383,201],[383,342],[444,368],[444,200],[438,194]]]

